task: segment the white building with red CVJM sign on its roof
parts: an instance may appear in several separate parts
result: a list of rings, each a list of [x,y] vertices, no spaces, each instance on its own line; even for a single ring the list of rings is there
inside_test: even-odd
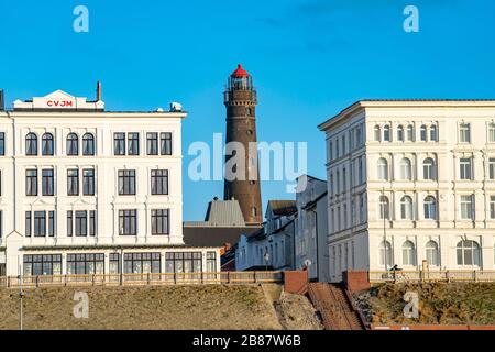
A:
[[[2,274],[220,270],[183,242],[182,120],[62,90],[0,109]]]

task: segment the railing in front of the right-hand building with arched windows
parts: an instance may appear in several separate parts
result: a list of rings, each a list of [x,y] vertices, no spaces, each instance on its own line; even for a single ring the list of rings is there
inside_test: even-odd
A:
[[[495,271],[371,271],[370,283],[495,282]]]

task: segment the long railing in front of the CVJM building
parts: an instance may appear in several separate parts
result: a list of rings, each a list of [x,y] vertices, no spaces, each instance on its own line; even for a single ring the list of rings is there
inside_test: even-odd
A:
[[[22,283],[21,283],[22,280]],[[0,287],[22,286],[145,286],[145,285],[202,285],[202,284],[263,284],[282,283],[283,272],[207,272],[207,273],[143,273],[3,276]]]

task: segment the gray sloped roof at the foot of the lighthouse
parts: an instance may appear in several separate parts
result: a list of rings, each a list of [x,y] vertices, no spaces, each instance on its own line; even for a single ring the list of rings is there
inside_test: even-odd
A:
[[[217,200],[208,204],[205,221],[213,226],[244,227],[244,217],[238,200]]]

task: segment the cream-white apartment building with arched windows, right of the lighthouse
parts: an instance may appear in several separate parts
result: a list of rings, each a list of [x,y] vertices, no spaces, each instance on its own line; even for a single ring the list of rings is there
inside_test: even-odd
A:
[[[332,280],[495,268],[495,100],[363,100],[319,129]]]

